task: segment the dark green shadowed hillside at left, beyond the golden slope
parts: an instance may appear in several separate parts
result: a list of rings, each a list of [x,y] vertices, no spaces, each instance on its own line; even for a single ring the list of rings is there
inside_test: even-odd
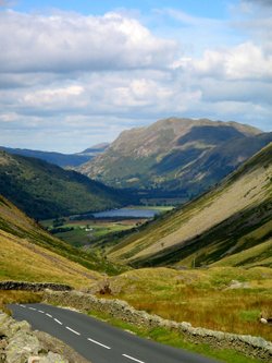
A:
[[[124,193],[40,159],[0,152],[0,193],[36,219],[120,207]]]

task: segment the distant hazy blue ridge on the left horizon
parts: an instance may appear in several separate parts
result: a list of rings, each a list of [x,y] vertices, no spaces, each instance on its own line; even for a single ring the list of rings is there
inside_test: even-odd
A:
[[[100,153],[104,152],[109,144],[99,144],[87,148],[86,150],[77,154],[61,154],[54,152],[40,152],[40,150],[29,150],[26,148],[11,148],[0,146],[1,150],[4,150],[12,155],[22,155],[33,158],[38,158],[50,164],[55,164],[59,167],[78,167],[82,164],[89,161],[91,158],[96,157]]]

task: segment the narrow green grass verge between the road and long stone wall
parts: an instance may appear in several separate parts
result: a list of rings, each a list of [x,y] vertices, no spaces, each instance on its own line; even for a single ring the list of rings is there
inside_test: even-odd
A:
[[[101,319],[103,322],[107,322],[108,324],[111,324],[112,326],[115,326],[123,330],[131,331],[132,334],[135,334],[141,338],[152,339],[162,344],[171,346],[178,349],[185,349],[187,351],[198,353],[200,355],[213,358],[221,362],[263,363],[263,361],[261,360],[245,356],[244,354],[238,353],[233,349],[215,349],[203,343],[198,343],[198,344],[193,343],[186,340],[183,334],[176,331],[170,331],[164,328],[147,329],[138,327],[133,324],[124,323],[121,319],[116,319],[109,314],[96,311],[89,311],[88,315]]]

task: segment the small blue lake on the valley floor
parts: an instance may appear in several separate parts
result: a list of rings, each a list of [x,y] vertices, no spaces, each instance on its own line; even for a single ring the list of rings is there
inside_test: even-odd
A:
[[[95,218],[153,218],[156,215],[159,214],[159,209],[121,208],[94,213],[92,216]]]

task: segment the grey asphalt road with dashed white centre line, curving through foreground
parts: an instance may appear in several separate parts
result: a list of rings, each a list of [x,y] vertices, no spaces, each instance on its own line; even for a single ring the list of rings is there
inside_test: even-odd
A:
[[[12,304],[9,308],[15,319],[61,339],[92,363],[215,363],[66,308],[46,304]]]

